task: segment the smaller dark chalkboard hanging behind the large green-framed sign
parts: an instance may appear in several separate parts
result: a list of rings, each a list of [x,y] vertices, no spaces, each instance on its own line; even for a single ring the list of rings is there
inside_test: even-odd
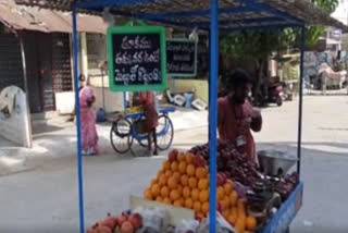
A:
[[[166,64],[170,76],[196,76],[197,42],[190,39],[166,40]]]

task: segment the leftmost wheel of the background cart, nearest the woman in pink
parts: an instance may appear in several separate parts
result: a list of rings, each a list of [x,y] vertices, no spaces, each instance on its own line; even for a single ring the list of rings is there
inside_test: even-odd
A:
[[[116,152],[126,154],[130,149],[133,144],[130,130],[132,124],[125,118],[120,118],[112,123],[110,143]]]

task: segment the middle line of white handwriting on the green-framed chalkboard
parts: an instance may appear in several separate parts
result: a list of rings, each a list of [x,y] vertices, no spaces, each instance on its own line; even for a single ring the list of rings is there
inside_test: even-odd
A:
[[[160,62],[160,50],[156,50],[152,53],[147,51],[136,51],[135,53],[129,52],[117,52],[115,57],[116,64],[133,65],[139,63],[159,63]]]

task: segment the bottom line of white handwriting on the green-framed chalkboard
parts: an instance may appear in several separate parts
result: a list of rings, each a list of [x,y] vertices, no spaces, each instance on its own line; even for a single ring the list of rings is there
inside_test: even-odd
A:
[[[149,72],[147,69],[136,64],[129,71],[126,69],[115,70],[115,82],[123,83],[124,85],[128,85],[129,83],[149,84],[160,79],[161,72],[157,68]]]

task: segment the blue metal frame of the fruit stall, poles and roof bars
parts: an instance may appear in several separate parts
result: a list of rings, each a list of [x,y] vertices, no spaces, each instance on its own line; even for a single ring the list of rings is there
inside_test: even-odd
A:
[[[83,159],[82,159],[82,134],[80,134],[80,112],[79,112],[79,97],[78,97],[78,41],[77,41],[77,10],[98,11],[102,12],[104,8],[116,8],[122,5],[132,5],[137,3],[150,3],[171,0],[95,0],[86,2],[76,2],[72,5],[73,17],[73,61],[74,61],[74,82],[75,82],[75,100],[76,100],[76,131],[77,131],[77,176],[78,176],[78,208],[79,208],[79,232],[85,232],[85,216],[84,216],[84,180],[83,180]],[[110,13],[121,16],[137,17],[139,20],[147,20],[166,24],[170,26],[179,26],[186,28],[195,28],[208,30],[210,34],[210,74],[209,74],[209,152],[210,152],[210,210],[216,210],[216,125],[217,125],[217,77],[219,77],[219,32],[220,26],[223,32],[236,30],[262,30],[262,29],[284,29],[287,27],[297,27],[301,29],[301,56],[300,56],[300,89],[299,89],[299,115],[298,115],[298,163],[297,170],[300,173],[301,160],[301,131],[302,131],[302,96],[303,96],[303,48],[304,48],[304,22],[296,19],[286,12],[271,8],[270,5],[256,2],[256,0],[244,0],[243,7],[234,7],[231,9],[219,9],[219,0],[210,0],[210,9],[194,10],[184,12],[170,13],[144,13],[133,14],[129,12],[111,9]],[[228,26],[228,22],[219,21],[220,14],[241,14],[247,12],[266,12],[272,16],[261,17],[257,20],[240,20],[236,26]],[[191,17],[191,16],[210,16],[210,22],[199,22],[183,25],[173,21],[174,19]],[[254,26],[254,23],[262,23],[262,25]],[[125,94],[124,94],[125,95]],[[125,99],[125,98],[124,98]],[[124,102],[124,105],[126,105]],[[269,222],[264,233],[287,232],[288,225],[296,216],[302,203],[303,184],[299,183],[290,197],[283,204],[276,216]],[[209,231],[216,232],[216,211],[209,212]]]

